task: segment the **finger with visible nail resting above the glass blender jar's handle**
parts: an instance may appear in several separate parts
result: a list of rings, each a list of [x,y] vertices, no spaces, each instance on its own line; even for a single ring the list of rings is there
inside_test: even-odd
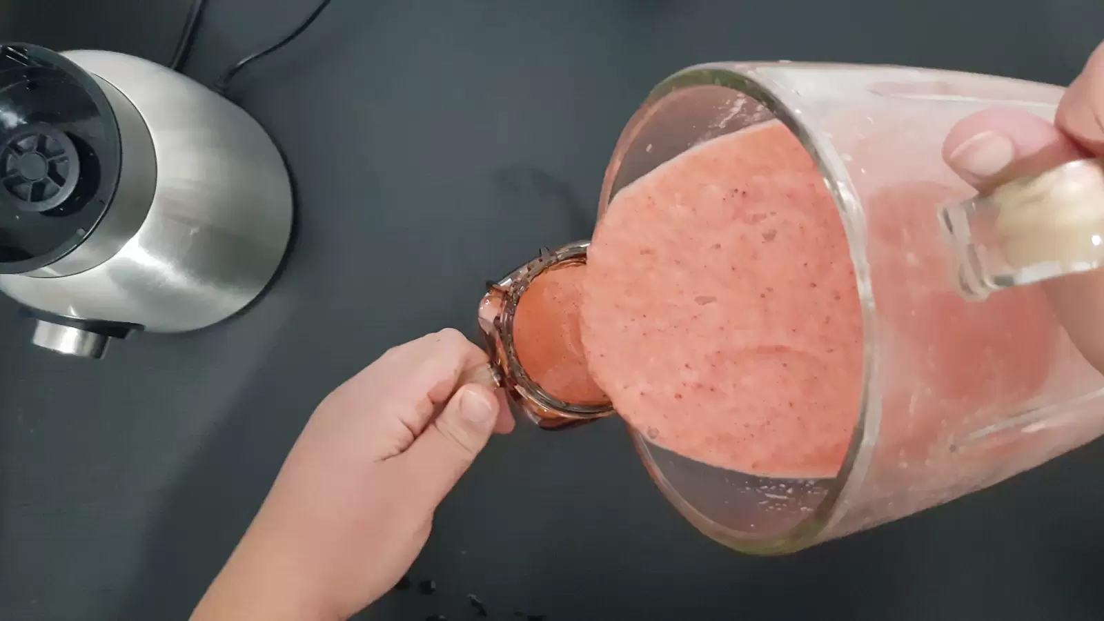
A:
[[[962,119],[943,144],[947,165],[980,192],[1083,157],[1078,144],[1052,124],[1004,108]]]

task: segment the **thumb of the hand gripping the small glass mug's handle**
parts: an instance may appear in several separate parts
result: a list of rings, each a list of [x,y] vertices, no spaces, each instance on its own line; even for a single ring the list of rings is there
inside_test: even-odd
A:
[[[495,431],[499,400],[478,385],[460,387],[401,455],[393,457],[410,472],[411,485],[436,507],[482,451]]]

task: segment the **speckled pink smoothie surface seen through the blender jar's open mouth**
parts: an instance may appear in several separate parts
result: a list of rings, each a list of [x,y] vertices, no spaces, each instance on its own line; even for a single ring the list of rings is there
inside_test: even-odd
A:
[[[651,442],[764,476],[832,476],[857,421],[862,322],[831,196],[777,122],[617,193],[587,254],[591,372]]]

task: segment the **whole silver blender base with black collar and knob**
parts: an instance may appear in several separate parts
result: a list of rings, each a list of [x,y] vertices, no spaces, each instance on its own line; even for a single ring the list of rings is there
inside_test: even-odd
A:
[[[0,291],[35,345],[98,358],[226,319],[291,223],[284,160],[233,103],[124,54],[0,45]]]

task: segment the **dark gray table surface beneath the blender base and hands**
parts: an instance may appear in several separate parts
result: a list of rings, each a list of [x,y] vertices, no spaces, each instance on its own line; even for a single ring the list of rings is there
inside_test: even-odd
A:
[[[314,1],[211,0],[185,72],[210,82]],[[96,364],[32,349],[0,301],[0,619],[187,618],[329,389],[402,340],[470,334],[486,278],[587,235],[614,140],[670,72],[785,57],[1064,83],[1104,38],[1098,0],[988,4],[335,0],[233,92],[297,185],[293,254],[258,306]],[[115,48],[144,36],[167,49],[134,28]],[[1097,443],[758,559],[686,524],[617,422],[522,425],[442,506],[411,571],[436,592],[363,618],[475,619],[474,593],[491,619],[1098,620],[1102,474]]]

